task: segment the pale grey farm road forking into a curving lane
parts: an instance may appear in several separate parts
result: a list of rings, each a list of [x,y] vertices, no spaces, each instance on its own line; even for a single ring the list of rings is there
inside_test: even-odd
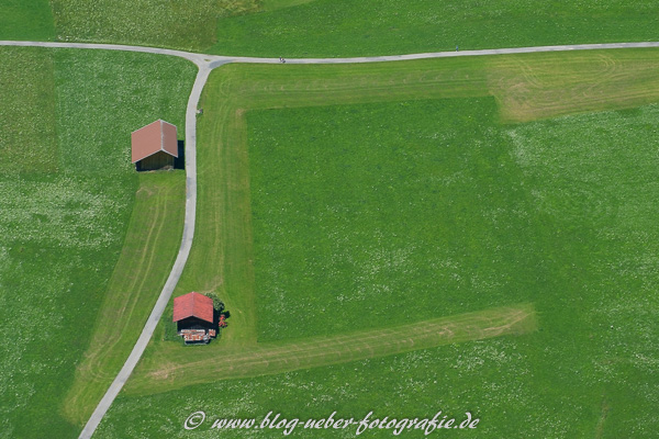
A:
[[[116,44],[86,44],[86,43],[51,43],[51,42],[29,42],[29,41],[0,41],[0,46],[29,46],[29,47],[51,47],[51,48],[81,48],[81,49],[104,49],[104,50],[124,50],[124,52],[141,52],[147,54],[177,56],[188,59],[197,65],[199,71],[188,99],[186,110],[186,217],[183,225],[183,237],[179,248],[178,256],[174,262],[174,267],[167,282],[158,296],[154,308],[142,329],[139,338],[135,342],[131,354],[126,359],[123,368],[105,392],[105,395],[94,409],[93,414],[87,421],[87,425],[80,432],[80,439],[91,438],[101,419],[110,408],[110,405],[129,380],[129,376],[135,369],[137,361],[146,349],[154,330],[178,280],[183,271],[192,238],[194,235],[194,219],[197,212],[197,106],[203,87],[211,71],[227,63],[253,63],[253,64],[279,64],[279,58],[257,58],[257,57],[232,57],[219,55],[196,54],[182,50],[172,50],[157,47],[129,46]],[[481,56],[481,55],[504,55],[504,54],[527,54],[538,52],[565,52],[565,50],[592,50],[592,49],[611,49],[611,48],[645,48],[659,47],[659,42],[647,43],[610,43],[610,44],[579,44],[579,45],[562,45],[562,46],[538,46],[538,47],[516,47],[516,48],[499,48],[499,49],[482,49],[482,50],[462,50],[462,52],[435,52],[424,54],[410,55],[389,55],[373,57],[357,57],[357,58],[287,58],[288,64],[350,64],[350,63],[382,63],[398,61],[409,59],[425,59],[425,58],[447,58],[457,56]]]

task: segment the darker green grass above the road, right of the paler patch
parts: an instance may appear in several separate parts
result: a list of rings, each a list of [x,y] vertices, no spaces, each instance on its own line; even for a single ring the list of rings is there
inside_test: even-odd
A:
[[[266,1],[217,23],[212,53],[365,56],[546,44],[657,41],[652,1]],[[293,4],[291,8],[279,7]],[[208,50],[205,50],[208,52]]]

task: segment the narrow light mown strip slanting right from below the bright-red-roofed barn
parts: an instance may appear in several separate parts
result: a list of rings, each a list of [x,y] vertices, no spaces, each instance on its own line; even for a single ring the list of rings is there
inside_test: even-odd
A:
[[[337,364],[454,342],[521,335],[534,330],[536,325],[533,306],[525,304],[333,337],[227,349],[221,358],[206,350],[194,356],[194,360],[190,359],[190,348],[179,349],[165,358],[152,357],[150,361],[141,363],[138,371],[146,379],[131,380],[125,391],[150,394],[203,383],[208,376],[215,381]],[[194,373],[199,370],[204,373]]]

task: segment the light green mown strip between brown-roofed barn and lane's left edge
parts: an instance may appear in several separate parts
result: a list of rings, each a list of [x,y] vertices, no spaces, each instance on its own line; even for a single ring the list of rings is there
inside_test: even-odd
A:
[[[65,416],[78,425],[119,373],[167,280],[180,244],[185,195],[182,171],[139,175],[122,252],[64,404]]]

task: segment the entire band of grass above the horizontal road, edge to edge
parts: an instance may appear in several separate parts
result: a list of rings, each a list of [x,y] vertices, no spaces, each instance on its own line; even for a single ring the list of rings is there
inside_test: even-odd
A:
[[[0,38],[268,57],[656,41],[659,29],[649,0],[1,0],[0,12]]]

